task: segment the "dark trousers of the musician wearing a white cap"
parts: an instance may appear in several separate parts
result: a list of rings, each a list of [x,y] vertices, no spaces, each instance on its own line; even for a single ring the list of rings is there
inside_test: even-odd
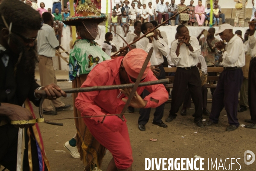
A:
[[[230,125],[239,126],[237,119],[238,94],[243,82],[243,71],[241,68],[235,70],[224,70],[218,80],[217,87],[212,97],[212,111],[209,119],[218,123],[222,109],[227,111],[227,119]]]

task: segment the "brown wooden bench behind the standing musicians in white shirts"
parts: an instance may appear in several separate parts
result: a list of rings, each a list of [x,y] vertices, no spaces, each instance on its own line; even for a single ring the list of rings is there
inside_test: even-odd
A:
[[[223,67],[208,67],[207,68],[207,72],[222,72],[223,71]],[[165,72],[176,72],[177,68],[173,67],[173,68],[164,68]],[[174,82],[174,77],[175,76],[166,76],[166,78],[169,78],[170,83],[166,84],[166,88],[173,88],[173,82]],[[218,81],[218,76],[208,76],[207,77],[207,81],[210,80],[214,80],[214,81]],[[213,85],[209,85],[208,83],[205,84],[206,88],[216,88],[217,84],[213,84]]]

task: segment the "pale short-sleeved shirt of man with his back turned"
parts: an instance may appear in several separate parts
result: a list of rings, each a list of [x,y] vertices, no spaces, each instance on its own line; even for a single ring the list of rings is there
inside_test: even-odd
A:
[[[59,42],[55,36],[54,29],[48,24],[43,24],[41,30],[38,31],[38,54],[46,57],[55,57],[55,48],[59,46]]]

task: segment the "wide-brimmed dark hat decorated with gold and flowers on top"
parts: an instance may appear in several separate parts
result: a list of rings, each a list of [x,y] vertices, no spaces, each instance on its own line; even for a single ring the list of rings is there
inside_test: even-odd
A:
[[[85,0],[81,0],[76,8],[76,15],[67,17],[62,22],[69,26],[77,26],[83,21],[99,24],[107,20],[107,15],[99,12],[92,3],[88,4]]]

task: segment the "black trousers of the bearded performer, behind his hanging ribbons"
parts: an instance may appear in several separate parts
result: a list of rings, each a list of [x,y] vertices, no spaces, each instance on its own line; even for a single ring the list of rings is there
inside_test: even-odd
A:
[[[9,171],[16,171],[17,168],[17,140],[18,128],[11,124],[0,126],[0,164],[7,168]],[[25,130],[26,132],[26,130]],[[25,136],[25,151],[23,158],[23,171],[29,171],[28,160],[28,135]],[[32,165],[33,171],[39,171],[38,151],[36,142],[32,136],[31,139],[31,152],[32,152]],[[46,171],[48,171],[45,165]]]

